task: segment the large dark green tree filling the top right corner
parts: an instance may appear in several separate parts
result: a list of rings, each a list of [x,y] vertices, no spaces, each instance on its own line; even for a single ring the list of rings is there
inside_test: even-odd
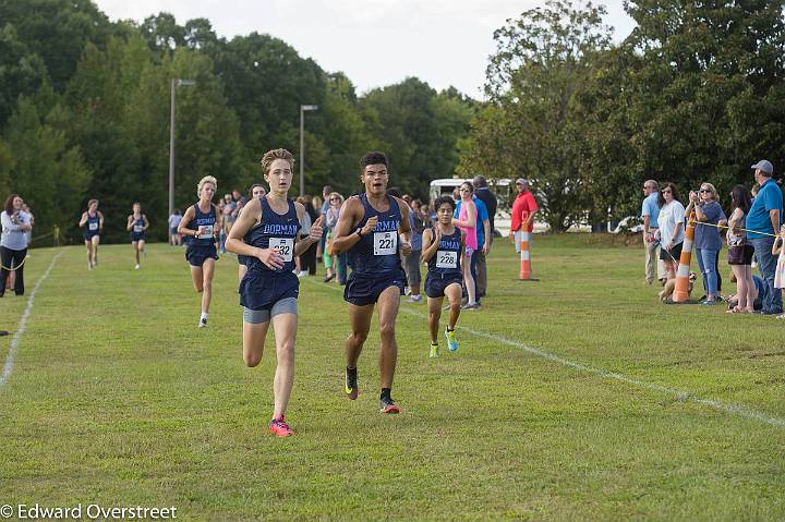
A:
[[[639,169],[684,190],[749,184],[749,165],[785,162],[782,2],[629,2]]]

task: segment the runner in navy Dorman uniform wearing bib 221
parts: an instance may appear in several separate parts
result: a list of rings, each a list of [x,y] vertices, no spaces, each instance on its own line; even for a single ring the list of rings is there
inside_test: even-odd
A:
[[[387,195],[387,167],[384,153],[367,153],[360,160],[360,181],[365,185],[365,192],[343,203],[333,235],[331,254],[348,252],[352,268],[343,291],[352,329],[346,341],[345,390],[349,399],[357,399],[357,363],[371,329],[374,306],[378,305],[382,338],[379,410],[399,413],[390,390],[398,359],[395,323],[406,280],[400,254],[408,256],[411,253],[411,226],[409,205]]]

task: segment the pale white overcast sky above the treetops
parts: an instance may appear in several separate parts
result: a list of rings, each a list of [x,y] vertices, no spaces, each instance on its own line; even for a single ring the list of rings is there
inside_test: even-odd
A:
[[[267,33],[342,71],[358,94],[416,76],[440,90],[482,98],[493,32],[544,0],[94,0],[111,20],[143,21],[161,11],[180,25],[205,17],[227,39]],[[621,0],[605,3],[617,40],[635,25]]]

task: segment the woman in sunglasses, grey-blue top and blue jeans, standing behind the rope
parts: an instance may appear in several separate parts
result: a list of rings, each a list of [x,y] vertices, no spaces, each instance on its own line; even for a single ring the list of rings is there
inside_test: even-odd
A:
[[[717,226],[727,224],[725,213],[717,203],[714,185],[701,183],[698,191],[690,191],[690,203],[685,214],[689,216],[693,209],[698,219],[695,235],[696,256],[706,292],[705,300],[701,301],[701,304],[713,305],[720,298],[716,259],[722,248],[722,238]]]

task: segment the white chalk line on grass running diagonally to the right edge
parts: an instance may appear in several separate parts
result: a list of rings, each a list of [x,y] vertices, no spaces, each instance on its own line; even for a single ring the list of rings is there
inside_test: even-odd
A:
[[[335,288],[327,283],[322,283],[318,281],[310,281],[310,282],[312,282],[314,284],[318,284],[321,287],[326,287],[326,288],[329,288],[333,290],[340,290],[340,288]],[[408,309],[406,307],[401,307],[400,311],[406,314],[420,317],[422,319],[427,319],[427,317],[425,315],[414,312],[413,309]],[[619,374],[617,372],[611,372],[607,369],[596,368],[594,366],[588,366],[585,364],[576,363],[568,359],[564,359],[556,354],[553,354],[550,352],[544,352],[542,350],[538,350],[536,348],[529,347],[527,344],[523,344],[522,342],[518,342],[518,341],[508,339],[506,337],[503,337],[503,336],[499,336],[496,333],[490,333],[487,331],[482,331],[482,330],[474,330],[472,328],[468,328],[468,327],[461,326],[461,325],[456,325],[456,328],[459,330],[462,330],[462,331],[467,331],[467,332],[471,333],[472,336],[483,337],[483,338],[490,339],[492,341],[496,341],[496,342],[499,342],[503,344],[519,348],[519,349],[524,350],[540,359],[544,359],[546,361],[551,361],[551,362],[560,364],[563,366],[575,368],[580,372],[593,374],[593,375],[596,375],[604,379],[618,380],[620,383],[625,383],[625,384],[628,384],[628,385],[631,385],[631,386],[635,386],[638,388],[644,388],[644,389],[652,390],[652,391],[659,391],[659,392],[667,394],[667,396],[673,396],[680,402],[693,402],[696,404],[701,404],[704,406],[713,408],[715,410],[720,410],[721,412],[729,413],[732,415],[750,418],[753,421],[759,421],[764,424],[769,424],[771,426],[785,427],[785,418],[771,416],[765,413],[759,412],[757,410],[752,410],[751,408],[747,408],[742,404],[726,404],[724,402],[715,401],[713,399],[704,399],[704,398],[698,397],[693,393],[690,393],[689,391],[684,391],[684,390],[679,390],[676,388],[669,388],[667,386],[657,385],[655,383],[647,383],[645,380],[638,380],[638,379],[633,379],[632,377],[627,377],[626,375]]]

